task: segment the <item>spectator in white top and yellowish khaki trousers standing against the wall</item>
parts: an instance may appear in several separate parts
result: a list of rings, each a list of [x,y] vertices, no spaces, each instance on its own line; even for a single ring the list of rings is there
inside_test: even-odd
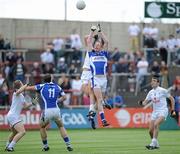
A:
[[[140,33],[139,26],[133,22],[128,27],[128,33],[129,33],[129,37],[130,37],[131,50],[133,52],[136,52],[139,50],[139,33]]]

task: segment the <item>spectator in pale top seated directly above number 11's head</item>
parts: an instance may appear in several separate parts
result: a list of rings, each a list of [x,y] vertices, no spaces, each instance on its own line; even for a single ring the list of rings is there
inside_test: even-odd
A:
[[[47,45],[46,51],[44,51],[40,55],[40,58],[41,58],[41,62],[42,62],[42,71],[43,71],[43,73],[45,73],[46,64],[51,64],[51,65],[54,64],[54,56],[51,53],[51,47],[49,45]]]

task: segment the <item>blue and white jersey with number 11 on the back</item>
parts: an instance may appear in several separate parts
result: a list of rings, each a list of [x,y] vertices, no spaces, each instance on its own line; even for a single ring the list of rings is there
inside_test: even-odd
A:
[[[35,88],[37,91],[40,92],[40,95],[43,100],[44,109],[58,107],[57,105],[58,98],[65,95],[62,88],[53,82],[45,83],[45,84],[37,84],[35,85]]]

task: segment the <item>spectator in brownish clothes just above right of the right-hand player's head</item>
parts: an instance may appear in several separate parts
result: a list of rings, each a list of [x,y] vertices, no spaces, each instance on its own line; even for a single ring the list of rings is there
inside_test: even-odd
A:
[[[160,74],[161,74],[161,81],[160,81],[161,87],[165,89],[169,88],[168,67],[164,61],[161,61]]]

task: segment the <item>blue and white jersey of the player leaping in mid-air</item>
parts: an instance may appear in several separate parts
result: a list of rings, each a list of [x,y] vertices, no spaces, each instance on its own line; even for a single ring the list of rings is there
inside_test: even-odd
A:
[[[106,75],[108,62],[107,51],[90,51],[85,58],[86,67],[90,67],[93,75]]]

